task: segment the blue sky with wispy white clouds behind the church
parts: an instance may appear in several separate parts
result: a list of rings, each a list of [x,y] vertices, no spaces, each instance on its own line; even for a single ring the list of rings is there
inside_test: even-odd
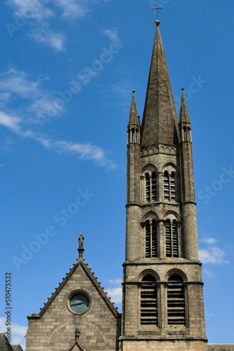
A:
[[[207,337],[234,343],[234,3],[158,4],[177,110],[184,86],[193,124]],[[14,343],[24,345],[27,314],[76,262],[80,232],[86,262],[121,308],[126,124],[132,89],[144,108],[155,6],[1,2],[0,327],[11,272]]]

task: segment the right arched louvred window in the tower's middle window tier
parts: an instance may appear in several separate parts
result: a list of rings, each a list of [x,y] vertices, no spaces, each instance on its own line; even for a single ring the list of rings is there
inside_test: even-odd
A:
[[[166,256],[179,257],[179,231],[177,220],[165,222]]]

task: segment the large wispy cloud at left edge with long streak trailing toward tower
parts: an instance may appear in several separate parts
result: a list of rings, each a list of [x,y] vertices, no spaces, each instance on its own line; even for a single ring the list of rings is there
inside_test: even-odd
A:
[[[38,117],[40,115],[51,116],[53,112],[53,117],[55,117],[64,110],[64,105],[58,106],[55,104],[54,93],[43,91],[43,81],[30,81],[25,72],[11,68],[8,72],[0,75],[1,92],[11,96],[1,105],[1,126],[9,128],[22,138],[35,140],[43,147],[55,150],[55,152],[76,155],[79,159],[90,160],[98,166],[108,169],[116,168],[116,164],[109,159],[107,152],[102,147],[92,145],[92,143],[53,140],[47,135],[35,133],[25,128],[28,124],[39,124],[40,119]],[[16,115],[16,113],[11,112],[11,100],[14,100],[15,103],[17,98],[20,100],[20,107]],[[25,101],[22,99],[25,99]],[[44,119],[43,122],[45,122]]]

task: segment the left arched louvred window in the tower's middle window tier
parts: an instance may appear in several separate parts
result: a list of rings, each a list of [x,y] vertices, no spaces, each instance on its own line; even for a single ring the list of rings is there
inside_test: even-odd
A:
[[[158,225],[146,220],[146,258],[158,256]]]

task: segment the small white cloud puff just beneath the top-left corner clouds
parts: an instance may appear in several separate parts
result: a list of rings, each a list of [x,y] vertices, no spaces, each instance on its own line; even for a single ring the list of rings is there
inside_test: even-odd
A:
[[[67,51],[65,48],[66,38],[62,33],[55,33],[50,29],[36,28],[31,34],[28,34],[30,38],[34,39],[37,43],[44,44],[53,48],[57,52]]]

